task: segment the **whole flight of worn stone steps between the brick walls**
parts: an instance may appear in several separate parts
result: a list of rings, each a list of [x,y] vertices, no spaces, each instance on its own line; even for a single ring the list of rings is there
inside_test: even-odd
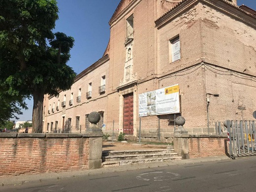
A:
[[[173,149],[103,151],[102,167],[181,159]]]

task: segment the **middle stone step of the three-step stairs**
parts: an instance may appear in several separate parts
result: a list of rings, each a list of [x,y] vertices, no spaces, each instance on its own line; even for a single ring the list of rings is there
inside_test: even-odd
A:
[[[131,154],[131,155],[111,155],[102,157],[102,161],[111,161],[111,160],[131,160],[131,159],[148,159],[148,158],[164,158],[164,157],[174,157],[177,156],[177,153],[150,153],[150,154]]]

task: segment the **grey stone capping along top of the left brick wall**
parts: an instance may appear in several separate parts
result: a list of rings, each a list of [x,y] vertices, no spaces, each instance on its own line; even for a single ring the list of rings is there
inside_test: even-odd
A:
[[[102,136],[103,133],[0,133],[0,138],[89,138]]]

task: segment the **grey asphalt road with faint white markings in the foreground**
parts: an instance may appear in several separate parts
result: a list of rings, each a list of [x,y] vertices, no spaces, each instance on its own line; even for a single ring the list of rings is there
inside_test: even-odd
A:
[[[256,192],[256,158],[44,180],[0,192]]]

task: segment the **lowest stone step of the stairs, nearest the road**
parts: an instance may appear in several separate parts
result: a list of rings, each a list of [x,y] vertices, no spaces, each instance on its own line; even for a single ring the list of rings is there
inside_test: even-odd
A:
[[[130,160],[111,160],[102,162],[102,167],[112,167],[112,166],[121,166],[127,164],[139,164],[147,162],[162,162],[170,160],[182,160],[182,157],[172,156],[172,157],[162,157],[162,158],[147,158],[147,159],[130,159]]]

